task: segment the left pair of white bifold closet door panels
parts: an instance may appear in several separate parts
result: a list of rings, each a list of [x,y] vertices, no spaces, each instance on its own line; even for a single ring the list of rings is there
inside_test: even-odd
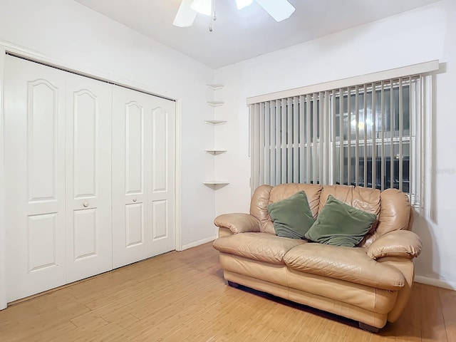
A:
[[[6,56],[7,299],[112,269],[112,87]]]

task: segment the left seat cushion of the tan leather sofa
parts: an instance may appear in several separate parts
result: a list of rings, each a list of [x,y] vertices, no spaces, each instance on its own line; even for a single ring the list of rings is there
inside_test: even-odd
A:
[[[306,244],[304,240],[276,237],[269,233],[242,233],[219,237],[214,248],[219,252],[239,255],[269,264],[285,264],[284,256],[293,247]]]

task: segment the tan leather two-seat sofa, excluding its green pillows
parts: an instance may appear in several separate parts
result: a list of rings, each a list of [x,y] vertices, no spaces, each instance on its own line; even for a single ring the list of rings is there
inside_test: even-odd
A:
[[[378,215],[373,231],[357,247],[336,247],[305,239],[277,237],[268,204],[304,190],[314,218],[333,195]],[[413,284],[413,258],[421,251],[410,232],[413,209],[408,196],[346,185],[261,185],[250,214],[222,214],[214,220],[224,278],[316,309],[351,318],[378,331],[402,313]]]

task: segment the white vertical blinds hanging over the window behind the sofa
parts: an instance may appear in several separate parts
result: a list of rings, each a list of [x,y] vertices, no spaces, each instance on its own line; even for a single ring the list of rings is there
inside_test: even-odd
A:
[[[252,190],[344,184],[417,194],[420,78],[407,76],[249,105]]]

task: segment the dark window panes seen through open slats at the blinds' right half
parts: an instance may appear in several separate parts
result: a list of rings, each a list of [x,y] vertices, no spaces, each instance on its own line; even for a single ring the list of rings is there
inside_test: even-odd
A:
[[[331,93],[336,184],[412,191],[418,83],[399,78]]]

